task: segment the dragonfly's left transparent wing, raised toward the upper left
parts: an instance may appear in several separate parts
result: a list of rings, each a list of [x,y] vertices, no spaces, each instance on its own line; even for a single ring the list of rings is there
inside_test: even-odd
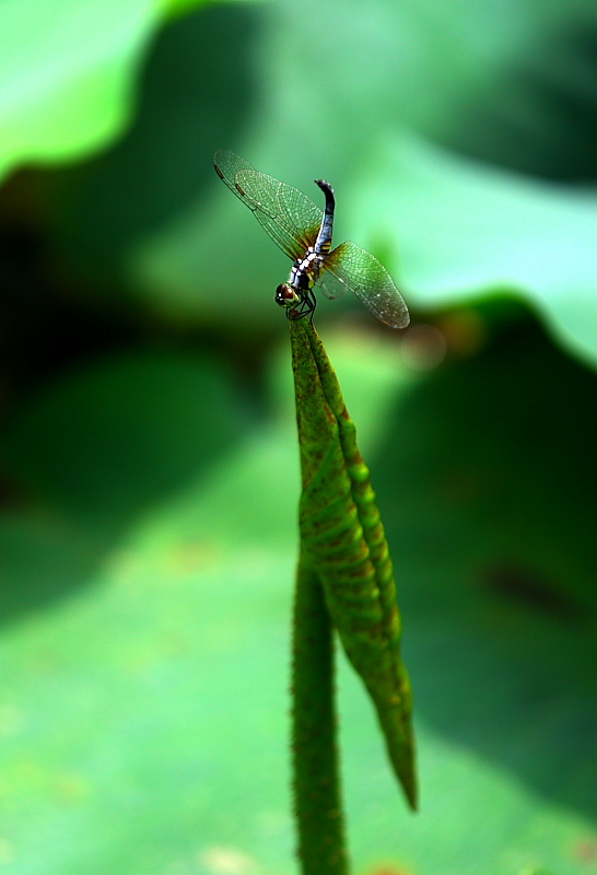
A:
[[[225,149],[215,152],[213,166],[290,258],[301,258],[314,245],[324,213],[306,195]]]

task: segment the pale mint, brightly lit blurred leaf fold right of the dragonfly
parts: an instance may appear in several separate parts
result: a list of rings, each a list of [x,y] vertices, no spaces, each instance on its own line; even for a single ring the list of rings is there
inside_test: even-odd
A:
[[[407,136],[351,191],[360,240],[413,305],[524,295],[554,337],[597,362],[597,194],[522,177]],[[360,218],[361,217],[361,218]]]

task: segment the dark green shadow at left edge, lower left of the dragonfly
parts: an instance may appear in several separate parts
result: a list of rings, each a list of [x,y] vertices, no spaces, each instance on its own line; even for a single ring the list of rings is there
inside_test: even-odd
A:
[[[87,585],[130,527],[207,476],[246,435],[247,409],[212,357],[129,351],[72,370],[13,418],[0,523],[0,618]],[[197,530],[200,545],[204,532]]]

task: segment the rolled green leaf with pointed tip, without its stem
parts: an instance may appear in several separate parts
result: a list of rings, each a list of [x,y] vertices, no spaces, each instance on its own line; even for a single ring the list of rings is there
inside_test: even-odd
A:
[[[303,489],[302,561],[316,571],[343,649],[377,711],[395,773],[417,807],[411,692],[384,527],[338,380],[317,332],[291,320]]]

